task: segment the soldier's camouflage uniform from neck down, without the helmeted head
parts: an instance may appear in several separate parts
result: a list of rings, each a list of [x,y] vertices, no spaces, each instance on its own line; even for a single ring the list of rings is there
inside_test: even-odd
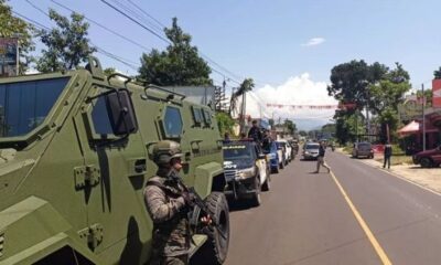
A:
[[[147,209],[153,220],[150,264],[179,265],[189,263],[190,224],[183,188],[169,172],[158,171],[144,189]],[[178,177],[179,178],[179,177]]]

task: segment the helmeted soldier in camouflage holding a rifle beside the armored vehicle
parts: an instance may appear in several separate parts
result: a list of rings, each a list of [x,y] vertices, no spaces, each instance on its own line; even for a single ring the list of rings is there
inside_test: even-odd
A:
[[[144,199],[153,220],[152,256],[150,264],[178,265],[189,263],[191,231],[189,193],[174,178],[182,168],[180,145],[164,140],[153,148],[159,169],[144,189]]]

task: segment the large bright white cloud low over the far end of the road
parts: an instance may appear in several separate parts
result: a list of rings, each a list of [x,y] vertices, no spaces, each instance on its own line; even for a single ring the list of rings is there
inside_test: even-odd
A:
[[[311,129],[330,123],[335,109],[311,109],[268,107],[278,105],[336,105],[337,102],[327,95],[325,82],[314,82],[309,73],[288,78],[279,86],[265,85],[247,94],[247,114],[251,117],[275,119],[293,119],[298,127]],[[239,104],[239,103],[238,103]]]

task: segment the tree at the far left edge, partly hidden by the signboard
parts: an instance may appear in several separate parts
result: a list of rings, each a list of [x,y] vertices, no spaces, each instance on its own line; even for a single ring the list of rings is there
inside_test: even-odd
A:
[[[24,20],[12,14],[12,9],[6,0],[0,0],[0,38],[19,38],[19,74],[24,74],[35,50],[32,42],[34,28]]]

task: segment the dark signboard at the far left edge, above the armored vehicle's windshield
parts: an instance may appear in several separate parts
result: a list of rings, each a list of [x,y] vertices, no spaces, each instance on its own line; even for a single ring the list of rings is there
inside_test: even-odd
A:
[[[0,77],[18,75],[18,39],[0,38]]]

